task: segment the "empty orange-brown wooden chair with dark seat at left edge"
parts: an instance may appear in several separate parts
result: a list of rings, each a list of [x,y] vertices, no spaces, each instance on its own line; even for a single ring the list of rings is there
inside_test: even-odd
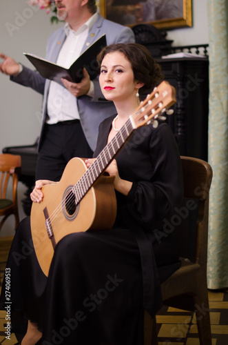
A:
[[[0,230],[10,215],[15,217],[15,230],[19,225],[19,212],[17,206],[17,185],[21,171],[21,156],[3,153],[0,155]],[[12,192],[10,190],[10,177],[12,179]],[[12,194],[11,194],[12,193]],[[12,197],[8,197],[12,195]]]

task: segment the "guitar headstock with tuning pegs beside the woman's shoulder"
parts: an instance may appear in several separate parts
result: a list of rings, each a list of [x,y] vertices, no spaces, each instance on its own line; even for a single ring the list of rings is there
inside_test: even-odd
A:
[[[138,109],[132,115],[134,128],[154,124],[156,127],[156,119],[165,119],[163,114],[170,115],[173,111],[167,110],[176,103],[176,90],[167,81],[162,81],[147,98],[141,102]]]

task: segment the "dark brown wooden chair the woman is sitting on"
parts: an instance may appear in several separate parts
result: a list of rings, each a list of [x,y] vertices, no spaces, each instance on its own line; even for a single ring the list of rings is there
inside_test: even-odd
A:
[[[161,284],[163,304],[196,312],[200,345],[211,345],[211,325],[207,291],[207,236],[211,166],[200,159],[181,157],[184,179],[184,197],[198,204],[196,215],[194,255],[181,257],[181,266]],[[182,254],[183,255],[183,254]],[[156,317],[145,311],[144,345],[157,345]]]

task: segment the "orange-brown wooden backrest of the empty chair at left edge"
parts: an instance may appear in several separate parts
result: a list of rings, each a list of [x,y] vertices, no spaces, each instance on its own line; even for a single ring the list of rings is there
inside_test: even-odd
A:
[[[21,156],[3,153],[0,155],[0,199],[6,199],[8,182],[12,176],[12,201],[17,202],[17,183],[21,171]]]

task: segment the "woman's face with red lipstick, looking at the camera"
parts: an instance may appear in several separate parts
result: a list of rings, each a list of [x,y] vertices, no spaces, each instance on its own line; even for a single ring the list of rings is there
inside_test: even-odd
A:
[[[101,91],[109,101],[136,99],[137,83],[131,63],[122,52],[110,52],[101,62]],[[134,97],[134,98],[133,98]]]

